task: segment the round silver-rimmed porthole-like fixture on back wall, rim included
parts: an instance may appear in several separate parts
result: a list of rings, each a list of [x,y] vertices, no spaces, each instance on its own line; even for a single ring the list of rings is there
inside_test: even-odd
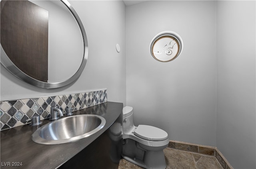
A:
[[[176,32],[163,31],[158,33],[150,43],[150,53],[160,62],[176,59],[182,52],[183,41]]]

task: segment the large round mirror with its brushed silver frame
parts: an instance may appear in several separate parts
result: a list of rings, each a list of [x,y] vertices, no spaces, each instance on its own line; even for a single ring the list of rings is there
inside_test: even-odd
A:
[[[38,87],[58,88],[82,73],[88,42],[67,0],[1,0],[1,64]]]

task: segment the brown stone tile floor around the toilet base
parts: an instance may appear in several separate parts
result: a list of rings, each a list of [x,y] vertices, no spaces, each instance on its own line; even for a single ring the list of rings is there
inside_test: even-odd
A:
[[[166,148],[164,155],[166,169],[223,169],[213,156],[202,155],[177,149]],[[121,159],[118,169],[143,169],[138,165]]]

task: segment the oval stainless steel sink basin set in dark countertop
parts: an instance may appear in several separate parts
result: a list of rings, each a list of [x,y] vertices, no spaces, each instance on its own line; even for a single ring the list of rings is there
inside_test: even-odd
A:
[[[94,114],[61,118],[38,128],[32,140],[40,144],[61,144],[86,138],[104,127],[106,120]]]

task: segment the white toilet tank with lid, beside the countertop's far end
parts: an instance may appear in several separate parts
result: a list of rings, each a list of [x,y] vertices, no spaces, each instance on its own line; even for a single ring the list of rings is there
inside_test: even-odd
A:
[[[124,134],[133,130],[133,108],[130,106],[125,106],[123,108],[123,132]]]

